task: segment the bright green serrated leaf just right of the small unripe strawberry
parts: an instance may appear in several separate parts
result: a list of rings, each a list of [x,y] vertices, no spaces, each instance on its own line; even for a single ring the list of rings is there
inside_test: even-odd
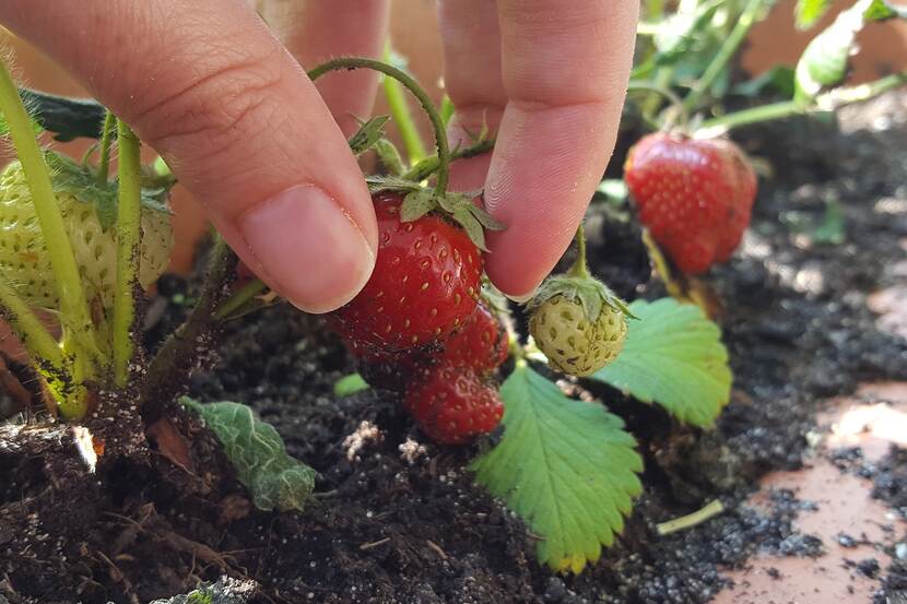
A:
[[[728,351],[721,331],[695,305],[672,298],[629,305],[639,321],[628,323],[626,343],[592,379],[645,403],[657,403],[681,422],[715,423],[731,394]]]

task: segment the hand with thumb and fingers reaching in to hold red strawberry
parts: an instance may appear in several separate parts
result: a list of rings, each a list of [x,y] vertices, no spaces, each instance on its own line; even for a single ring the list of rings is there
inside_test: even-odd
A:
[[[299,0],[273,31],[244,0],[3,0],[0,24],[66,69],[160,153],[239,258],[298,308],[368,280],[370,198],[345,137],[377,80],[303,67],[380,57],[391,2]],[[515,299],[569,245],[614,146],[636,0],[440,0],[454,145],[483,122],[492,154],[451,186],[485,190],[507,229],[486,270]],[[285,45],[275,35],[280,34]]]

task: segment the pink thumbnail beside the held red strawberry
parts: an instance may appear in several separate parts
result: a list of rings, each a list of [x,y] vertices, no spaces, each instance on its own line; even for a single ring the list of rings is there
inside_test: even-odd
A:
[[[264,281],[306,312],[328,312],[358,294],[375,252],[335,200],[315,186],[287,189],[239,217]]]

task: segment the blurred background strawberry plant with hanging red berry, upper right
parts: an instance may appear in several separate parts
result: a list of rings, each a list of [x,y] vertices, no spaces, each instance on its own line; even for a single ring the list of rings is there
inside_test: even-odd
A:
[[[829,5],[801,0],[798,26],[814,26]],[[857,51],[857,33],[904,16],[902,8],[885,0],[859,0],[843,11],[813,38],[796,69],[776,68],[749,82],[733,82],[734,56],[774,7],[774,0],[682,0],[670,13],[660,1],[646,3],[628,116],[635,111],[643,129],[657,133],[631,149],[624,180],[651,237],[653,261],[676,295],[685,295],[683,287],[671,279],[660,251],[681,274],[702,274],[730,258],[750,222],[755,173],[743,152],[720,137],[743,126],[832,111],[907,82],[907,73],[895,73],[841,87]],[[782,98],[754,104],[759,95]],[[751,106],[735,108],[741,105]],[[603,183],[602,192],[609,190],[614,185]]]

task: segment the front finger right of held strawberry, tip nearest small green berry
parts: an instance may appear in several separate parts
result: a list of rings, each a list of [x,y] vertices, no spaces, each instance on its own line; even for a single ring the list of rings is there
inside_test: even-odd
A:
[[[498,0],[508,102],[485,181],[507,224],[486,270],[531,294],[569,246],[614,147],[633,59],[637,0]]]

